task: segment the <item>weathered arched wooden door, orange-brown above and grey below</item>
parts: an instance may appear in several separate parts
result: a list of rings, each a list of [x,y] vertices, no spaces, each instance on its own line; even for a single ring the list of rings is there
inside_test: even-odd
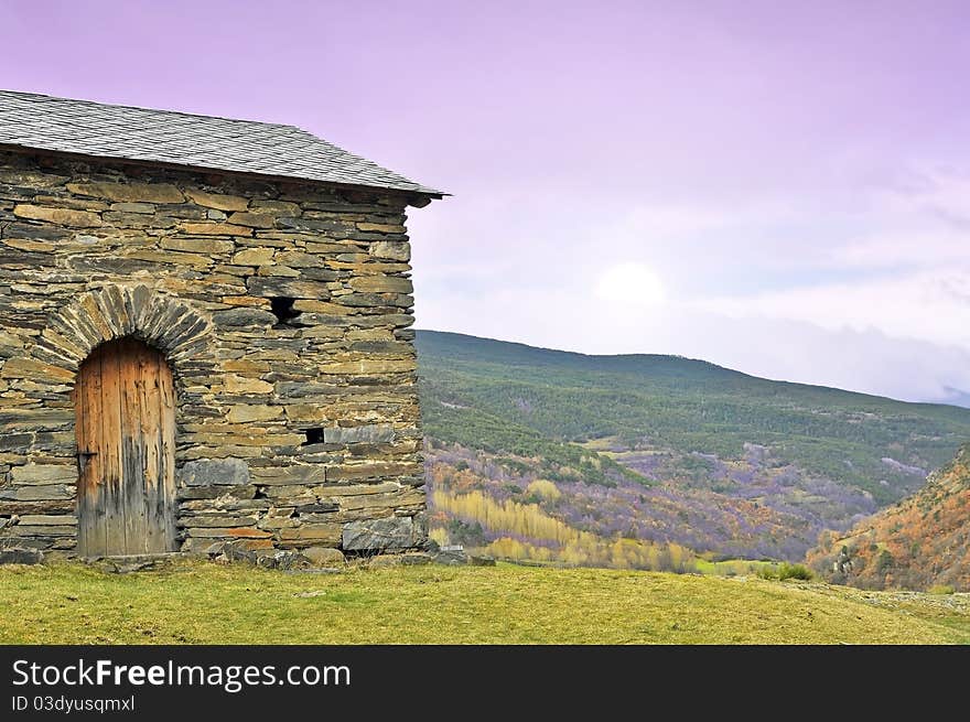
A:
[[[74,388],[77,551],[175,549],[175,391],[164,357],[134,338],[98,346]]]

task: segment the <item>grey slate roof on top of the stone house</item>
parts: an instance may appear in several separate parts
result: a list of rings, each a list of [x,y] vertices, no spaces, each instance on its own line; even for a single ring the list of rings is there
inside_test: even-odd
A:
[[[294,126],[32,93],[0,90],[0,144],[443,195]]]

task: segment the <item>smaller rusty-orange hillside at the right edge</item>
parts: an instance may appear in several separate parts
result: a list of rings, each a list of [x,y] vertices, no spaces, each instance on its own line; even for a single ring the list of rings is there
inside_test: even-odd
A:
[[[970,591],[970,444],[926,486],[808,554],[823,579],[864,589]]]

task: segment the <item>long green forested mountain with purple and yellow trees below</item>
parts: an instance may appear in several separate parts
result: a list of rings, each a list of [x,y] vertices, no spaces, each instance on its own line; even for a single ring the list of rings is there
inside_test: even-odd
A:
[[[798,560],[970,439],[968,409],[677,356],[432,331],[417,346],[436,534],[539,560]]]

